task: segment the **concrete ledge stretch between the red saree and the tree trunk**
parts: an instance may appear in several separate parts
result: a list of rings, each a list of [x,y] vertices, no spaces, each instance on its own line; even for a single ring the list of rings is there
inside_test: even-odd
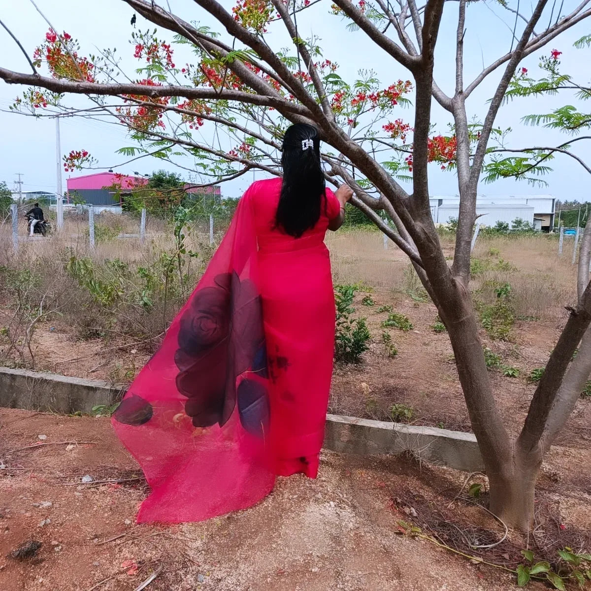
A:
[[[380,456],[411,452],[439,466],[465,472],[484,469],[473,433],[329,414],[324,447],[333,452]]]

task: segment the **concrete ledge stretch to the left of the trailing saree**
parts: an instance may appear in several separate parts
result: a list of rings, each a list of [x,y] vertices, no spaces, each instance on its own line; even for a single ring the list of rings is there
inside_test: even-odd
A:
[[[121,400],[125,386],[92,379],[0,368],[0,406],[71,414]]]

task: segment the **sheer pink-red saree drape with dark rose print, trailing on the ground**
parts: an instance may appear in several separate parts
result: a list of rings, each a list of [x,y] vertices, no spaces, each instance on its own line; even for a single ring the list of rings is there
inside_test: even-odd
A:
[[[113,415],[152,492],[138,522],[200,521],[274,485],[252,203],[241,199],[193,294]]]

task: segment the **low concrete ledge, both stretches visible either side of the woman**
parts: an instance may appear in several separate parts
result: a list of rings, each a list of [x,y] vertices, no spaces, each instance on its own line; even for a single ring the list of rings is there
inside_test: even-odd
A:
[[[0,368],[0,407],[90,413],[121,400],[125,386],[24,369]],[[327,415],[324,447],[333,452],[383,456],[411,452],[421,460],[475,472],[483,469],[472,433],[365,418]]]

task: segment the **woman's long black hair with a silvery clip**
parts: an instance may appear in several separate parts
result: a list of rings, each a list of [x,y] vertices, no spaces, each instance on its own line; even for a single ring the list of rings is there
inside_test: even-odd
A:
[[[312,125],[298,123],[283,137],[283,183],[275,223],[294,238],[314,228],[326,202],[320,138]]]

